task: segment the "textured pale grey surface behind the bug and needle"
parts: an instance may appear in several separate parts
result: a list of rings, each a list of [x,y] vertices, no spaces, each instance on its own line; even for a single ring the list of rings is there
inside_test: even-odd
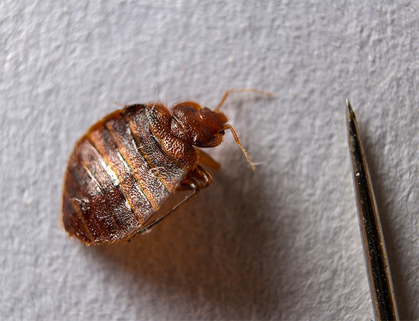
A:
[[[19,3],[17,3],[19,2]],[[348,158],[358,116],[402,319],[418,319],[416,1],[2,1],[0,318],[373,318]],[[128,245],[59,227],[75,141],[121,104],[218,104],[222,169]]]

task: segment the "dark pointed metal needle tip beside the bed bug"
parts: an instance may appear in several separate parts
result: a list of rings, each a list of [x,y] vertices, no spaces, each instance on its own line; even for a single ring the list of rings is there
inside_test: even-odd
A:
[[[374,191],[358,134],[355,113],[348,100],[346,100],[346,124],[362,245],[375,318],[376,320],[399,320]]]

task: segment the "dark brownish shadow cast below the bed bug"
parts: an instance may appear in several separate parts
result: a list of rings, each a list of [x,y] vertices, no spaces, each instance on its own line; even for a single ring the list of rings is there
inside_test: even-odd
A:
[[[248,177],[249,183],[257,180],[251,172]],[[274,240],[258,211],[266,204],[264,190],[247,194],[241,185],[235,174],[216,173],[212,188],[156,224],[151,233],[128,245],[93,250],[128,273],[140,291],[147,287],[156,296],[186,302],[177,305],[177,315],[205,305],[218,311],[219,318],[273,318],[270,311],[281,298],[272,278],[278,262],[267,252]]]

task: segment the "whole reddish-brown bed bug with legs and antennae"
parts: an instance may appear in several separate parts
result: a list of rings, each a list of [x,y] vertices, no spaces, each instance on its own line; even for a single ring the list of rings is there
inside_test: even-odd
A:
[[[104,117],[76,143],[68,161],[63,193],[63,223],[86,245],[131,241],[210,186],[202,164],[219,167],[198,148],[223,141],[230,129],[247,162],[247,151],[226,115],[184,101],[170,110],[159,103],[134,104]],[[189,194],[154,218],[176,191]]]

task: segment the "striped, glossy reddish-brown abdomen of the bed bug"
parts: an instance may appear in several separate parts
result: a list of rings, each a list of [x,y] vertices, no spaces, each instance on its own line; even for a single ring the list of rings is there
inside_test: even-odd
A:
[[[73,150],[63,221],[69,234],[88,244],[135,234],[187,173],[163,152],[145,108],[133,105],[108,115]]]

